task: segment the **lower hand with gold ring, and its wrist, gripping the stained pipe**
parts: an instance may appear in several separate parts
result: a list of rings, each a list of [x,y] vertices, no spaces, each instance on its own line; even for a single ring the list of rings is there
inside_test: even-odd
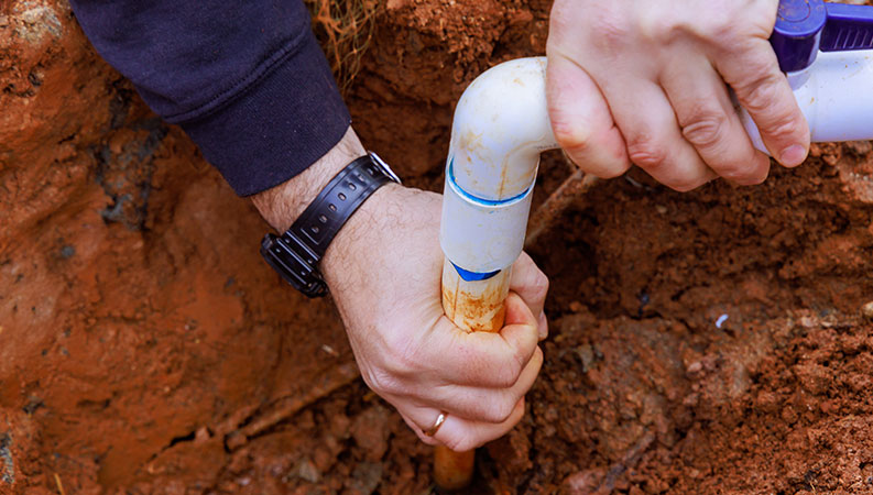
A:
[[[305,175],[254,204],[273,227],[287,229],[324,184],[362,154],[350,130]],[[543,363],[537,341],[547,332],[548,283],[522,254],[501,332],[460,330],[443,312],[439,217],[439,195],[385,185],[340,230],[321,270],[367,384],[425,442],[469,450],[506,433],[524,413],[524,394]],[[440,411],[447,419],[426,437]]]

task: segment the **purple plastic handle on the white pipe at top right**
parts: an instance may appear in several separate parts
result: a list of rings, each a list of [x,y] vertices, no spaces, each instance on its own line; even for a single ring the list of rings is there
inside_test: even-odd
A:
[[[785,73],[812,65],[819,50],[871,50],[873,7],[825,3],[823,0],[781,0],[770,42]]]

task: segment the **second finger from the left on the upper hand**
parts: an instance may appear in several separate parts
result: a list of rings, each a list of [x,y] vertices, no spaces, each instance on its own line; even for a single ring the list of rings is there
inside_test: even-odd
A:
[[[613,113],[624,133],[631,162],[659,183],[679,191],[716,178],[683,136],[670,102],[653,81],[636,80],[610,95]]]

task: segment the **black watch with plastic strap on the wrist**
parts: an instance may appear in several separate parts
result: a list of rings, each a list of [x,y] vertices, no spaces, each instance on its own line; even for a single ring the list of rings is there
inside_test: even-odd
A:
[[[353,161],[330,179],[285,233],[264,235],[261,255],[297,290],[308,297],[325,296],[327,284],[318,262],[358,207],[389,182],[400,184],[400,178],[375,153]]]

